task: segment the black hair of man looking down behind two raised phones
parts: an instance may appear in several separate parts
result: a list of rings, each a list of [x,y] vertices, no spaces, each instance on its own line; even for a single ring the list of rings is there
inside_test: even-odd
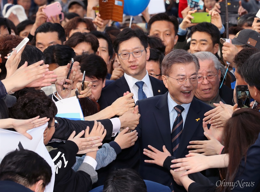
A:
[[[82,54],[75,57],[74,61],[80,63],[80,70],[86,71],[89,78],[97,78],[104,81],[107,76],[107,64],[104,59],[96,54]]]

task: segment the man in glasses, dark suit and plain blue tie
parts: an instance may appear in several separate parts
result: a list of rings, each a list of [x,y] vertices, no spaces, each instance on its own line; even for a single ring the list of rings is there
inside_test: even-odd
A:
[[[116,36],[113,48],[125,74],[102,90],[98,101],[101,110],[122,97],[126,91],[134,94],[135,102],[167,91],[162,81],[149,76],[146,71],[150,51],[147,37],[141,29],[123,29]]]

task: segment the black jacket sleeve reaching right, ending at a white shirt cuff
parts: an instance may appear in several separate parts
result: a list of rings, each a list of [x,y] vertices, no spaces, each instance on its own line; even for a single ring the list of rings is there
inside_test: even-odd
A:
[[[59,126],[55,129],[55,133],[53,134],[53,138],[67,140],[72,134],[73,131],[76,131],[76,135],[79,134],[82,130],[85,130],[87,126],[89,126],[89,130],[91,131],[94,126],[94,121],[80,121],[80,120],[69,120],[66,118],[54,117],[55,120],[59,122]],[[104,125],[107,130],[107,134],[105,139],[111,140],[112,132],[113,132],[113,124],[109,119],[97,120]]]

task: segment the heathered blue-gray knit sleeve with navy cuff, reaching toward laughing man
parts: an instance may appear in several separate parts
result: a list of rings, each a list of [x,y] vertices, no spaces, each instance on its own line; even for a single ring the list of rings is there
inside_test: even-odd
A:
[[[96,170],[106,167],[109,163],[114,161],[116,158],[116,152],[113,147],[111,147],[108,143],[104,143],[102,148],[97,151],[96,162],[97,167]]]

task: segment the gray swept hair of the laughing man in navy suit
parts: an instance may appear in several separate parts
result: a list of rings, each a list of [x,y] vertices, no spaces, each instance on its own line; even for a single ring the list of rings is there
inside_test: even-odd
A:
[[[189,64],[191,62],[195,63],[196,72],[198,72],[200,68],[199,60],[194,54],[191,54],[183,49],[173,49],[162,60],[161,74],[169,75],[169,73],[172,70],[172,65],[174,64],[178,64],[178,63]]]

